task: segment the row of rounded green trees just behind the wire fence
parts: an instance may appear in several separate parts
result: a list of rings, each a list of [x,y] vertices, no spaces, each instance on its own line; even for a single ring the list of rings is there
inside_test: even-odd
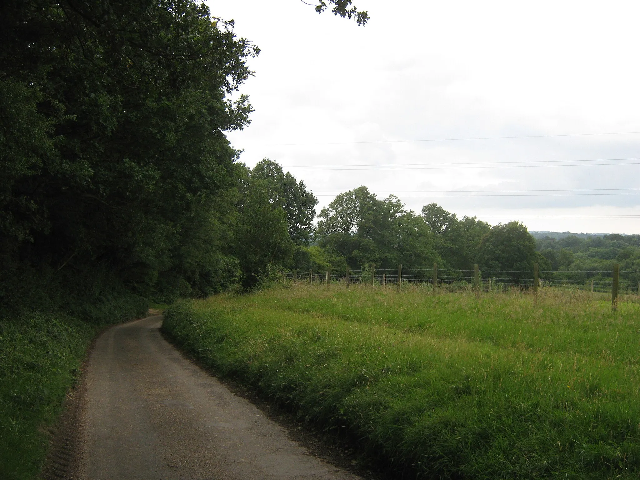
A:
[[[520,223],[492,228],[476,217],[458,220],[437,204],[425,205],[419,216],[406,211],[396,196],[378,200],[364,186],[336,196],[319,218],[320,246],[344,257],[352,269],[371,263],[378,269],[399,264],[431,269],[434,262],[452,270],[450,276],[472,271],[476,263],[495,271],[532,270],[536,262],[541,270],[550,269],[547,258],[536,252],[536,240]]]

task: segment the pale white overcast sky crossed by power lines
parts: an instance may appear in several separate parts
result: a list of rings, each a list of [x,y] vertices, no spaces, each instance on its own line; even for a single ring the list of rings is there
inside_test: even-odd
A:
[[[207,3],[262,50],[232,145],[318,212],[365,185],[415,211],[640,234],[640,3],[355,0],[365,27],[300,0]]]

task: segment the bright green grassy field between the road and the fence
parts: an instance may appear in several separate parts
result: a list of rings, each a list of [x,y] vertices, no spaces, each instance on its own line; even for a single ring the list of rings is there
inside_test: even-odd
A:
[[[640,477],[640,305],[298,284],[183,302],[214,372],[427,478]]]

